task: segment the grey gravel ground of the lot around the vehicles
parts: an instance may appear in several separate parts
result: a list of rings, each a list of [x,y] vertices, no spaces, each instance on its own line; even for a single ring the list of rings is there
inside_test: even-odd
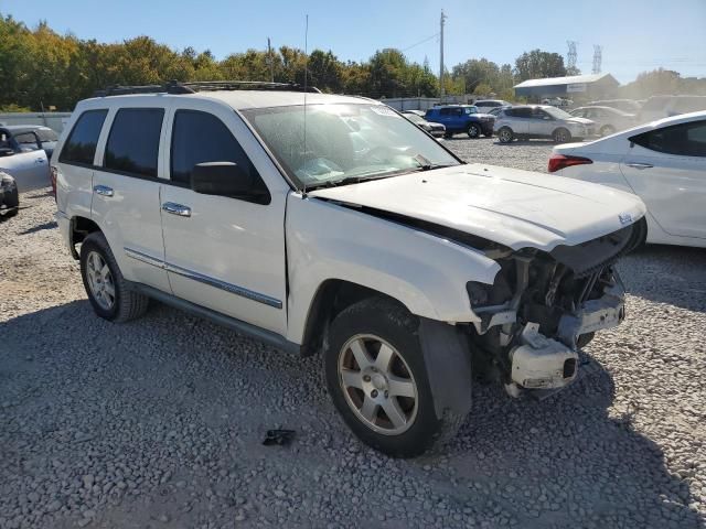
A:
[[[545,142],[451,140],[544,170]],[[153,304],[92,312],[44,192],[0,225],[0,528],[696,528],[706,519],[706,251],[620,266],[628,320],[545,401],[474,387],[442,451],[359,443],[299,359]],[[297,430],[290,446],[265,431]]]

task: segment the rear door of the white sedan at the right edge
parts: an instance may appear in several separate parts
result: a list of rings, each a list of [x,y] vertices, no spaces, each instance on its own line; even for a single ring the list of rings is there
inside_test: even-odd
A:
[[[706,238],[706,120],[631,138],[620,169],[670,235]]]

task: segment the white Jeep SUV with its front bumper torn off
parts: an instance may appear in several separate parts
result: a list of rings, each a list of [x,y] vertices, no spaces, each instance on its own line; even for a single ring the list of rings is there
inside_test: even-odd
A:
[[[466,164],[377,101],[246,86],[76,107],[52,173],[99,316],[153,298],[322,352],[345,422],[398,456],[454,432],[473,369],[555,390],[622,320],[613,264],[642,240],[639,198]]]

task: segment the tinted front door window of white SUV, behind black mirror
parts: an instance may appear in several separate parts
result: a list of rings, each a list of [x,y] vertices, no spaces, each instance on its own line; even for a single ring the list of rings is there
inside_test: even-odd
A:
[[[254,190],[269,203],[269,193],[257,170],[228,128],[215,116],[194,110],[179,110],[172,127],[171,180],[191,182],[194,165],[203,162],[235,162],[249,173]],[[255,202],[263,203],[263,199]]]

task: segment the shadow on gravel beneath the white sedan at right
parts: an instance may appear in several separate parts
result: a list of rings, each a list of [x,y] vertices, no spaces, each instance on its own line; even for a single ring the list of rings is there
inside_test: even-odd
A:
[[[646,245],[625,257],[618,269],[633,295],[706,312],[706,248]]]

